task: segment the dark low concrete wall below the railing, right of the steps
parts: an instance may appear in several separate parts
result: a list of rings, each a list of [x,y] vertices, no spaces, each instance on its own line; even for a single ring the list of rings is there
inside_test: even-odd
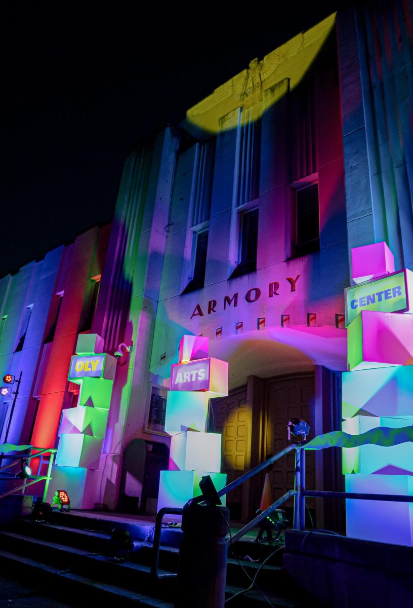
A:
[[[413,548],[285,532],[284,569],[326,608],[413,606]]]

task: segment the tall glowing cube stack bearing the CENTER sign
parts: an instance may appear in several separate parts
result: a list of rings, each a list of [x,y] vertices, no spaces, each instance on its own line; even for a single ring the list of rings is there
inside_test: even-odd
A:
[[[346,290],[347,373],[343,431],[413,424],[413,274],[394,272],[385,243],[352,250]],[[413,444],[343,449],[347,492],[413,494]],[[347,500],[347,535],[413,545],[413,503]]]

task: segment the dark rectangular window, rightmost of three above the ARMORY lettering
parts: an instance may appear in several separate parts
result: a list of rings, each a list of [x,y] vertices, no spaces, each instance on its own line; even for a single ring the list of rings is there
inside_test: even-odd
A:
[[[318,184],[293,190],[293,257],[319,251]]]

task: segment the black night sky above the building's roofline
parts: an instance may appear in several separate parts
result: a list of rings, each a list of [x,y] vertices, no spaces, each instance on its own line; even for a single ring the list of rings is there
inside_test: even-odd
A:
[[[109,221],[131,147],[339,4],[2,2],[0,277]]]

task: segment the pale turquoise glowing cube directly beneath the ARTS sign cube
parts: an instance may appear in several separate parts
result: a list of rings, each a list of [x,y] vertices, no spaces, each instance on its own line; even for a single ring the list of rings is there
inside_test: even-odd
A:
[[[177,435],[185,430],[205,430],[208,416],[208,395],[188,391],[168,391],[165,431]]]

